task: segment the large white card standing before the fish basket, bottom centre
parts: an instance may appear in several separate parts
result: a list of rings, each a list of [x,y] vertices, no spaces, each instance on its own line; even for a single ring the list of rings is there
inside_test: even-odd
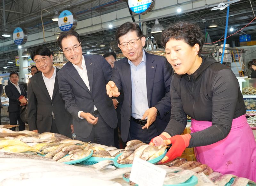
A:
[[[156,165],[135,157],[130,180],[139,186],[162,186],[166,171]]]

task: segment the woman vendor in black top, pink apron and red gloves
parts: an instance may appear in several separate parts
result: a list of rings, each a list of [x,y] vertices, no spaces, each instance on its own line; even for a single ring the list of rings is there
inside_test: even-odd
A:
[[[177,23],[163,32],[166,58],[176,72],[171,82],[172,114],[150,145],[172,144],[162,163],[196,147],[196,159],[222,174],[256,181],[256,143],[245,118],[236,76],[212,57],[200,57],[199,26]],[[191,134],[181,134],[191,119]]]

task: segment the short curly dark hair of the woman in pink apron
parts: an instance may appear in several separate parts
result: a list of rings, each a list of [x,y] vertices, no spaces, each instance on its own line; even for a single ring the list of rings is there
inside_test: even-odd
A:
[[[188,45],[194,47],[195,44],[199,45],[198,56],[202,52],[204,45],[204,34],[198,25],[193,23],[179,22],[171,25],[162,33],[162,45],[165,47],[170,39],[184,40]]]

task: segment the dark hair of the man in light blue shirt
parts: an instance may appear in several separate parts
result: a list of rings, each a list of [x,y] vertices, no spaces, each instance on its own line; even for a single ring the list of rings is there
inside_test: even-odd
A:
[[[119,26],[118,29],[116,30],[116,42],[117,44],[119,43],[119,38],[123,35],[125,35],[128,32],[133,32],[135,31],[137,36],[139,38],[143,37],[143,33],[140,29],[140,26],[137,25],[136,23],[131,23],[131,22],[126,22],[123,25]]]

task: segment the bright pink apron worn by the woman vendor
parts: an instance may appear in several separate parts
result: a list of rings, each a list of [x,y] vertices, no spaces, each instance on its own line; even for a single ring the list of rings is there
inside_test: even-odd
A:
[[[191,119],[191,132],[212,126],[210,121]],[[214,171],[233,174],[256,182],[256,143],[245,115],[233,119],[228,136],[211,145],[196,147],[197,161]]]

